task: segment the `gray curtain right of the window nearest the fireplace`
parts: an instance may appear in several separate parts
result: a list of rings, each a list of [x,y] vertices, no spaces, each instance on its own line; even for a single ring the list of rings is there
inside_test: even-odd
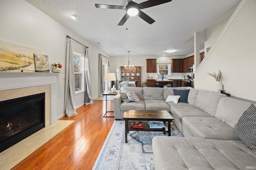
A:
[[[88,56],[88,47],[85,47],[85,88],[84,88],[84,104],[93,104],[92,100],[92,86],[91,86],[91,74],[90,74],[90,61]]]

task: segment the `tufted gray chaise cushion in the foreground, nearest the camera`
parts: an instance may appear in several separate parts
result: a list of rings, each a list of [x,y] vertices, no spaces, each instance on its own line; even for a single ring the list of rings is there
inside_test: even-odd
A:
[[[256,153],[242,141],[156,136],[152,139],[156,170],[246,170]]]

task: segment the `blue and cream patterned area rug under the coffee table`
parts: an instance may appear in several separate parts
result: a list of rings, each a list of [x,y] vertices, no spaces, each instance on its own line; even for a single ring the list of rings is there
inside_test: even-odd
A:
[[[130,131],[125,143],[125,122],[114,121],[93,170],[154,170],[152,138],[168,136],[163,132]],[[183,136],[171,124],[172,136]]]

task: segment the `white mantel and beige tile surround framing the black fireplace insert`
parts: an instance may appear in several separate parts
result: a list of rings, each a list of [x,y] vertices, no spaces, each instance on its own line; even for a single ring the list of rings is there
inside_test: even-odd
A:
[[[56,121],[58,73],[0,72],[0,101],[45,92],[45,127]]]

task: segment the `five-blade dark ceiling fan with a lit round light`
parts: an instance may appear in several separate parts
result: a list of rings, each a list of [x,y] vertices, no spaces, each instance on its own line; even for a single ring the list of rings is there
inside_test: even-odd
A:
[[[148,0],[140,4],[136,3],[135,0],[127,0],[127,1],[128,1],[128,4],[126,6],[104,5],[104,4],[95,4],[95,6],[96,8],[126,10],[126,14],[118,23],[118,25],[124,25],[124,23],[126,22],[126,20],[128,20],[130,16],[136,16],[136,15],[138,15],[142,20],[146,21],[147,23],[152,24],[154,23],[155,20],[153,20],[150,16],[142,12],[141,9],[157,6],[160,4],[164,4],[166,2],[171,2],[172,0]]]

